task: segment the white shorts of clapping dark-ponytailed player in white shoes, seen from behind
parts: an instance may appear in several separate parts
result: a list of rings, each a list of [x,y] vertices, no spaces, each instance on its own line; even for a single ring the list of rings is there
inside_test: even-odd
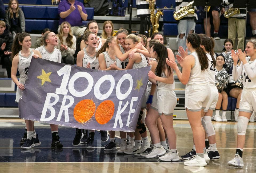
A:
[[[185,109],[198,112],[205,109],[210,100],[210,85],[186,85]]]

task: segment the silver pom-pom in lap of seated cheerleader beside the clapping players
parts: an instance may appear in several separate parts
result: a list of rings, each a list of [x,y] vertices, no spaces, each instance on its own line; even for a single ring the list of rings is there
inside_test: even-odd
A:
[[[215,85],[219,92],[227,88],[229,82],[229,74],[226,70],[221,70],[215,73]]]

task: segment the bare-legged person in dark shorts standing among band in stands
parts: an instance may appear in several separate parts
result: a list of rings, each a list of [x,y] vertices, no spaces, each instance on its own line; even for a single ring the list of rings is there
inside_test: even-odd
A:
[[[206,25],[205,25],[206,24],[206,11],[205,11],[205,7],[199,7],[199,18],[203,18],[203,26],[204,26],[204,29],[206,31],[206,35],[208,37],[211,36],[210,17],[212,17],[213,18],[213,26],[214,26],[213,38],[215,40],[220,39],[220,37],[219,37],[219,25],[220,25],[220,22],[221,22],[220,13],[223,14],[224,11],[225,11],[225,8],[222,8],[222,7],[210,7],[209,12],[207,12],[207,31],[206,31]]]

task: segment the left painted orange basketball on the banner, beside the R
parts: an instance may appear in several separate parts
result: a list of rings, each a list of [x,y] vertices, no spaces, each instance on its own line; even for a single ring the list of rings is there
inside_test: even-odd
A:
[[[96,106],[92,100],[81,100],[75,105],[74,118],[79,123],[86,123],[95,112]]]

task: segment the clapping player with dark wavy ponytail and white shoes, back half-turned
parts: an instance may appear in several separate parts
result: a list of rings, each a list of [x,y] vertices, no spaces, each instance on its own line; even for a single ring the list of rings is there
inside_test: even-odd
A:
[[[201,111],[206,108],[210,99],[209,93],[211,93],[207,72],[209,60],[200,44],[201,38],[198,34],[193,33],[187,36],[186,46],[191,54],[186,56],[183,62],[179,62],[183,67],[182,72],[174,60],[166,58],[167,64],[176,71],[181,83],[186,84],[185,109],[197,152],[195,157],[186,158],[191,159],[184,162],[187,166],[206,166],[206,160],[210,160],[204,148],[205,134],[201,123]]]

